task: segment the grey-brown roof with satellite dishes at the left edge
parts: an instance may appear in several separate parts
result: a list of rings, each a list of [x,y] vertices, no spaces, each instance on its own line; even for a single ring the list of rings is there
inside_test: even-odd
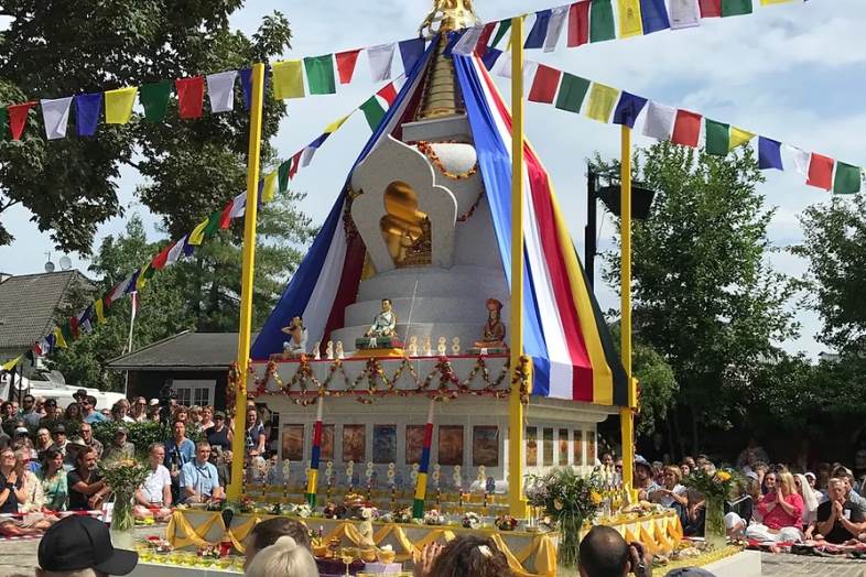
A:
[[[0,350],[23,351],[46,336],[75,283],[91,284],[75,270],[22,274],[0,282]]]

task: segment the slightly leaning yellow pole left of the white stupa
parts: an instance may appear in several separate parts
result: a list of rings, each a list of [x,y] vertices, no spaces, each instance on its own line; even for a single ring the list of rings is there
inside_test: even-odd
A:
[[[235,437],[231,442],[231,483],[226,497],[240,498],[247,431],[247,374],[252,330],[252,271],[256,268],[256,220],[259,208],[259,162],[261,154],[261,112],[264,96],[264,65],[252,66],[250,144],[247,159],[247,206],[243,213],[243,263],[240,282],[240,329],[238,333],[238,387],[235,393]]]

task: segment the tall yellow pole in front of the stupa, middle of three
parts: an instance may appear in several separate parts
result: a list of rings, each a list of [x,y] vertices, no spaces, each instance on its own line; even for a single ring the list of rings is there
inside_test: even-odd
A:
[[[523,352],[523,18],[511,20],[511,371]],[[515,519],[526,519],[523,494],[523,402],[513,380],[508,412],[508,504]]]

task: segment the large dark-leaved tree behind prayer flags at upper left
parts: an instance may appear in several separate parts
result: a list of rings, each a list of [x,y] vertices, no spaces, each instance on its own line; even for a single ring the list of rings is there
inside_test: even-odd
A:
[[[267,62],[290,47],[291,32],[279,12],[247,37],[229,30],[242,0],[12,0],[0,8],[10,19],[0,31],[0,100],[15,104],[139,86],[161,79],[237,69]],[[238,89],[238,98],[239,89]],[[266,99],[267,141],[284,116]],[[242,111],[178,120],[172,104],[164,123],[134,118],[101,124],[96,138],[46,142],[31,112],[25,137],[0,141],[0,215],[22,205],[40,230],[62,250],[88,253],[99,224],[121,215],[117,187],[122,164],[149,178],[139,194],[163,215],[173,235],[243,189],[248,119]],[[6,129],[4,129],[6,130]],[[7,130],[8,132],[8,130]],[[12,241],[0,224],[0,244]]]

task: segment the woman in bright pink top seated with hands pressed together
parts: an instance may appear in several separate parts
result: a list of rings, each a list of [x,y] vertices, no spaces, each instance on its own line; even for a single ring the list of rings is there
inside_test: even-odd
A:
[[[756,541],[798,542],[803,538],[803,498],[794,488],[790,472],[776,473],[776,491],[764,496],[758,503],[762,524],[749,525],[746,537]]]

